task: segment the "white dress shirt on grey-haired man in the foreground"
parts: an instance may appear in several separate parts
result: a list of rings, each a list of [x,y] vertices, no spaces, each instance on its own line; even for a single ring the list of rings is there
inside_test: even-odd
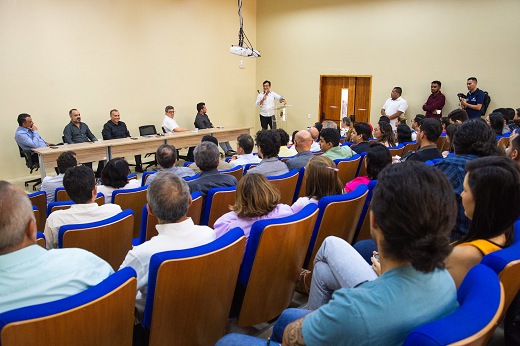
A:
[[[190,249],[216,239],[214,230],[208,226],[195,225],[190,217],[179,223],[158,224],[155,228],[159,235],[130,250],[119,268],[132,267],[137,273],[135,307],[141,314],[144,312],[146,302],[148,268],[152,256],[164,251]],[[193,273],[193,275],[197,274]],[[183,280],[185,278],[177,279]]]

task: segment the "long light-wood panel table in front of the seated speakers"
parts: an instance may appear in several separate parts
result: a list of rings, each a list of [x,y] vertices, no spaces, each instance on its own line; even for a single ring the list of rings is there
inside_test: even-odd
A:
[[[53,147],[34,148],[40,160],[40,174],[45,178],[45,168],[56,167],[56,159],[61,153],[72,150],[76,153],[78,163],[111,160],[114,157],[125,157],[139,154],[153,153],[161,144],[171,144],[176,148],[194,147],[200,143],[202,137],[212,135],[219,142],[234,141],[243,133],[249,133],[253,127],[215,127],[186,132],[172,132],[164,135],[144,137],[128,137],[98,142],[64,144]]]

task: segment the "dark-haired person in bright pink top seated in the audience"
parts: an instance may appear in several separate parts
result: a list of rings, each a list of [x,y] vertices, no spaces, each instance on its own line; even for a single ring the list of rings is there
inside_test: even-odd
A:
[[[399,128],[399,126],[401,125],[397,127]],[[381,143],[370,143],[365,161],[367,176],[357,177],[347,183],[345,185],[345,192],[354,191],[358,185],[368,185],[371,180],[377,180],[379,172],[390,164],[392,164],[392,154],[390,154],[390,150]]]

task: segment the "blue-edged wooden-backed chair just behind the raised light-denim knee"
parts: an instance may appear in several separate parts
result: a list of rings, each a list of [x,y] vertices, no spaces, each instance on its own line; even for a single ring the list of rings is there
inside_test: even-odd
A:
[[[354,191],[343,195],[322,197],[318,202],[318,218],[312,232],[303,268],[312,271],[314,257],[325,238],[335,236],[353,244],[361,212],[368,195],[366,185],[357,186]]]

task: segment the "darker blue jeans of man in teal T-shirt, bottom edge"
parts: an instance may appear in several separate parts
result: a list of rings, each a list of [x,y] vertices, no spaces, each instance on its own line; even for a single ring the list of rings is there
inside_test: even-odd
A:
[[[302,318],[303,316],[310,313],[311,310],[305,309],[286,309],[276,321],[273,327],[273,335],[271,336],[271,345],[281,345],[283,339],[283,332],[288,324]],[[220,339],[215,346],[265,346],[267,340],[255,338],[249,335],[242,334],[228,334]]]

